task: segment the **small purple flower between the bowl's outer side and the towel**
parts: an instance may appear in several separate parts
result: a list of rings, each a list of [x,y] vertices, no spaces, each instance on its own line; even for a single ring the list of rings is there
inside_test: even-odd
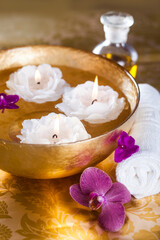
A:
[[[138,150],[139,146],[135,145],[135,139],[126,132],[122,132],[118,139],[118,147],[114,153],[114,161],[119,163],[138,152]]]

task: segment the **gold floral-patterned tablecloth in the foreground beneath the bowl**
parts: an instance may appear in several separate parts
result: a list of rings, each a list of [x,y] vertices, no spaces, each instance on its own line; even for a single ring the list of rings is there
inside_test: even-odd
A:
[[[115,180],[113,156],[98,165]],[[98,212],[74,202],[69,187],[79,175],[35,180],[0,171],[0,239],[3,240],[159,240],[160,194],[125,204],[117,233],[99,226]]]

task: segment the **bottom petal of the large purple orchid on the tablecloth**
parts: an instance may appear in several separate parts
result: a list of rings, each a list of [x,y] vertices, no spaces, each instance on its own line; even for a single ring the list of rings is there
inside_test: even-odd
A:
[[[121,203],[106,202],[102,206],[98,221],[103,229],[117,232],[123,226],[124,220],[125,210]]]

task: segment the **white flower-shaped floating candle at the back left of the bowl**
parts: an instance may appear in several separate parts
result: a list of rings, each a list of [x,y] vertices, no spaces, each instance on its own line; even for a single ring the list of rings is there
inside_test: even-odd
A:
[[[58,100],[68,84],[59,68],[49,64],[28,65],[10,75],[6,82],[8,94],[17,94],[28,102],[44,103]]]

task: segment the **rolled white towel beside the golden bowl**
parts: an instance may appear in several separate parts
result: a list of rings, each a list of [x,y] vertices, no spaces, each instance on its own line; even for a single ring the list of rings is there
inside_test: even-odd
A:
[[[139,152],[117,165],[117,180],[136,198],[160,192],[160,93],[139,84],[140,104],[130,135]]]

